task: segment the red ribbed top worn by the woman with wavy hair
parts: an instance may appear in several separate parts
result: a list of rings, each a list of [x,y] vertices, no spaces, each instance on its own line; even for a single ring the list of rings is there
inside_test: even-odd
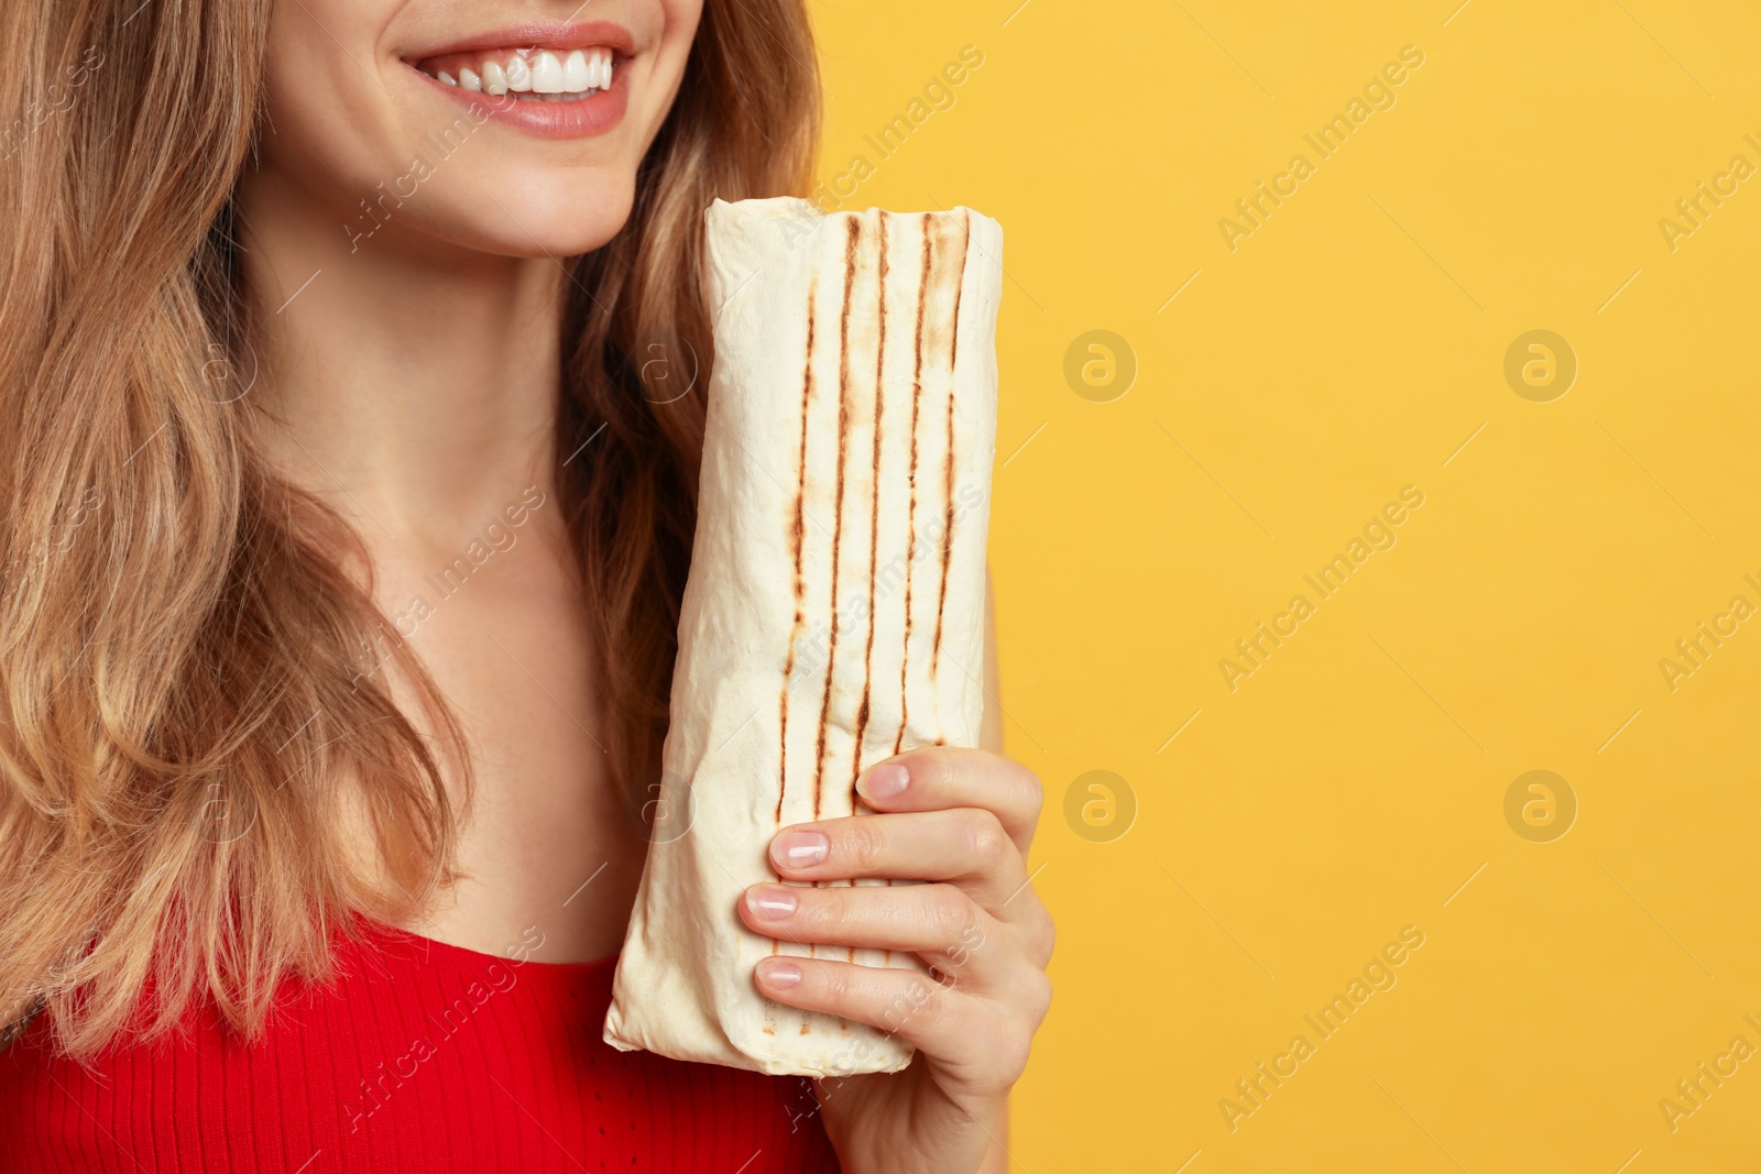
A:
[[[805,1079],[608,1046],[615,958],[370,926],[340,961],[250,1046],[204,1014],[81,1068],[32,1024],[0,1053],[0,1170],[838,1170]]]

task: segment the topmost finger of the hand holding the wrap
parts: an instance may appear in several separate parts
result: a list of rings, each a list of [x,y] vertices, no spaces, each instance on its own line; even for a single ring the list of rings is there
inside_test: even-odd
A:
[[[1020,762],[960,746],[923,746],[863,771],[856,794],[875,811],[983,808],[1027,859],[1039,824],[1039,776]]]

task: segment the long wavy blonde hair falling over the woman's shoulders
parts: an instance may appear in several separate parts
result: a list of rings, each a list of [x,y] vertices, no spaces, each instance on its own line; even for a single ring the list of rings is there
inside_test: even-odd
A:
[[[0,11],[0,1046],[42,1014],[81,1058],[203,998],[257,1033],[285,979],[333,977],[350,912],[396,921],[454,875],[468,801],[363,667],[386,623],[347,574],[365,547],[271,475],[227,378],[271,0],[137,4]],[[706,0],[630,222],[574,260],[558,454],[606,428],[558,493],[630,803],[659,769],[704,415],[701,378],[652,396],[641,364],[667,345],[708,370],[703,209],[805,194],[817,118],[803,0]]]

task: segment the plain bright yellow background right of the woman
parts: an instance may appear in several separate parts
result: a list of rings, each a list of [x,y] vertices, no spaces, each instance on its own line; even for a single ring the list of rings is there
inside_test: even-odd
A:
[[[1675,252],[1659,220],[1761,165],[1761,14],[1018,4],[815,4],[826,176],[984,53],[844,206],[1007,234],[1002,704],[1062,931],[1014,1169],[1756,1169],[1761,1058],[1675,1132],[1657,1102],[1761,1046],[1761,618],[1675,692],[1659,660],[1761,604],[1761,178]],[[1319,162],[1303,134],[1407,44],[1398,104]],[[1298,151],[1231,252],[1219,220]],[[1064,378],[1092,329],[1139,363],[1111,403]],[[1551,403],[1504,378],[1530,329],[1580,361]],[[1231,692],[1234,641],[1407,484],[1398,546]],[[1064,815],[1092,769],[1139,804],[1109,843]],[[1551,843],[1506,822],[1530,769],[1580,803]],[[1319,1042],[1303,1014],[1409,924],[1398,984]],[[1300,1031],[1231,1132],[1219,1100]]]

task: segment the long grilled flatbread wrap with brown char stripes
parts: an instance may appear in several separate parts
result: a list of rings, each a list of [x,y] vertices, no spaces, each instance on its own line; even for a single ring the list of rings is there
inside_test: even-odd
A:
[[[759,994],[747,885],[787,825],[852,815],[868,766],[976,746],[1002,229],[967,208],[706,213],[715,364],[671,727],[606,1042],[773,1075],[896,1072],[893,1030]],[[865,880],[859,884],[888,884]],[[954,947],[958,943],[949,943]]]

